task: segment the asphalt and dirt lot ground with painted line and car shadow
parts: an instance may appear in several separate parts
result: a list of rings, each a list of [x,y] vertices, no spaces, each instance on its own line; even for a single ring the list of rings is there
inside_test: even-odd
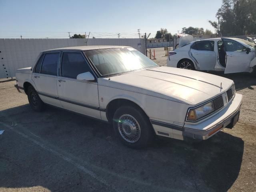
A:
[[[143,150],[120,144],[108,124],[53,107],[33,112],[15,81],[0,83],[0,191],[256,191],[256,77],[218,75],[244,96],[236,126]]]

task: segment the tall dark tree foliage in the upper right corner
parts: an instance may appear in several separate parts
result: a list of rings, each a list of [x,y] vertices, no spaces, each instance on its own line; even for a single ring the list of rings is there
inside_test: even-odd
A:
[[[216,14],[222,36],[256,33],[256,0],[222,0]]]

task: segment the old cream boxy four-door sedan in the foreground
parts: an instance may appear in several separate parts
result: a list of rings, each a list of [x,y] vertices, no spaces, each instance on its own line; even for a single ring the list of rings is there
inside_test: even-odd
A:
[[[238,121],[242,95],[230,79],[160,67],[126,46],[46,50],[18,69],[30,106],[64,108],[113,124],[120,140],[144,147],[154,135],[206,140]]]

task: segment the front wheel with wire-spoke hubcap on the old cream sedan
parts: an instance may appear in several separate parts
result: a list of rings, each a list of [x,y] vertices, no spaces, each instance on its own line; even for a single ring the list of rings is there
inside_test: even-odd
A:
[[[114,114],[113,127],[121,142],[132,148],[148,146],[154,136],[150,120],[138,107],[118,108]]]

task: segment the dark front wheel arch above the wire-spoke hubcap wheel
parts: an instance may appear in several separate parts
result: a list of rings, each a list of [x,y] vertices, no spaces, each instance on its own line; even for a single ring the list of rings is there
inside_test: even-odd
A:
[[[129,105],[129,106],[134,106],[136,108],[139,108],[140,110],[142,110],[142,112],[144,112],[144,114],[150,121],[150,117],[148,116],[146,111],[137,102],[134,102],[133,100],[130,100],[128,98],[115,98],[115,99],[111,100],[106,107],[106,117],[108,119],[108,122],[112,122],[114,113],[120,106],[123,106],[123,105]],[[150,124],[152,124],[151,121],[150,121]]]

